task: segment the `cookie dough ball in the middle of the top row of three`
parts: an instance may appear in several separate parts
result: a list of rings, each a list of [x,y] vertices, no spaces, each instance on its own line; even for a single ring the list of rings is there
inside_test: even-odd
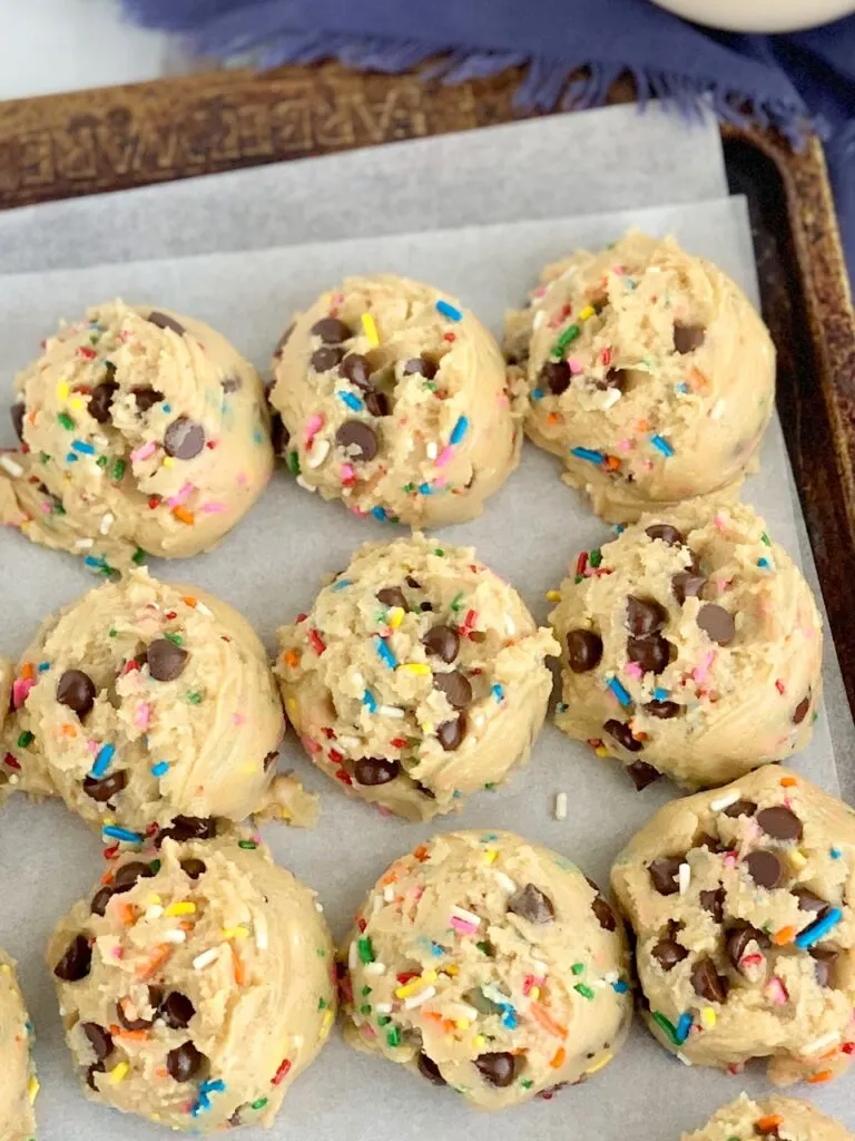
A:
[[[274,367],[288,468],[357,515],[473,519],[519,462],[521,411],[498,345],[431,285],[347,278],[295,316]]]

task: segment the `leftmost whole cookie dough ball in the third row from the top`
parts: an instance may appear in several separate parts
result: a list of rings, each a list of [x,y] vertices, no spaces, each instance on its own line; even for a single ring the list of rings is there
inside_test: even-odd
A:
[[[187,1133],[269,1126],[335,1018],[315,893],[237,835],[166,840],[105,880],[48,946],[90,1097]]]

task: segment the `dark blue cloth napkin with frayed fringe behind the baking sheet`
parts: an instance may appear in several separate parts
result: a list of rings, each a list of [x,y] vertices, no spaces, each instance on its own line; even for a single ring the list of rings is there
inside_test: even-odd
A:
[[[702,99],[727,122],[758,120],[798,146],[825,139],[855,280],[855,16],[791,35],[711,32],[648,0],[121,0],[147,27],[181,33],[190,51],[250,54],[262,67],[335,57],[401,72],[437,56],[430,72],[454,83],[526,64],[523,110],[603,103],[634,74],[640,100],[685,114]],[[570,81],[587,66],[589,78]]]

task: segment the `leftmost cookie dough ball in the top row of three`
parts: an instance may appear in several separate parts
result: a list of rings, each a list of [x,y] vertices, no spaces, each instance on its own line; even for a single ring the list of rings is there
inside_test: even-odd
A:
[[[0,454],[0,523],[103,574],[209,550],[272,472],[261,380],[201,321],[96,306],[16,387],[23,451]]]

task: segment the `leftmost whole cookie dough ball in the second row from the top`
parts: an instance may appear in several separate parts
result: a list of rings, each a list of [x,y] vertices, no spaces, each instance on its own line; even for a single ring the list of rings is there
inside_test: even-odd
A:
[[[0,769],[106,837],[178,816],[243,819],[264,803],[284,733],[249,623],[139,569],[47,621],[11,701]]]

